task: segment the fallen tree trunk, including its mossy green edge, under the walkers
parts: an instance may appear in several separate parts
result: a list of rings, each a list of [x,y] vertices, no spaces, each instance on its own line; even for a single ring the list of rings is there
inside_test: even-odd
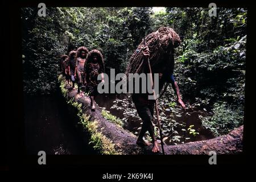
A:
[[[91,136],[94,148],[102,154],[152,154],[151,147],[141,147],[136,144],[137,137],[122,127],[105,119],[101,108],[96,104],[96,110],[90,109],[89,97],[81,97],[77,90],[65,82],[63,76],[59,77],[61,92],[67,100],[79,109],[81,125]],[[239,154],[242,152],[243,126],[221,137],[189,142],[176,146],[164,146],[166,154]],[[161,147],[160,152],[161,152]]]

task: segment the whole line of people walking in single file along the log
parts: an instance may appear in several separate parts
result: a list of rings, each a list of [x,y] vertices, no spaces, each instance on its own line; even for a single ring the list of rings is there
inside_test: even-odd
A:
[[[181,100],[179,87],[173,75],[174,48],[179,46],[179,44],[180,38],[172,28],[159,28],[158,31],[152,32],[144,38],[144,43],[142,42],[133,53],[127,73],[151,72],[152,75],[159,73],[159,90],[163,88],[164,84],[167,85],[167,83],[170,83],[177,96],[177,103],[185,109],[185,105]],[[146,66],[147,61],[145,60],[148,59],[152,70]],[[97,77],[99,74],[102,77],[101,81],[104,82],[104,60],[101,52],[97,49],[89,52],[85,47],[80,47],[77,51],[71,51],[68,56],[61,56],[61,71],[68,82],[71,79],[73,88],[75,81],[77,81],[78,93],[80,93],[81,86],[86,85],[89,91],[92,109],[95,109],[94,97],[98,94],[97,85],[100,81],[97,80]],[[149,100],[148,94],[144,93],[133,93],[131,94],[131,98],[133,99],[139,117],[143,121],[137,144],[143,146],[150,146],[152,144],[152,152],[159,152],[159,142],[156,140],[154,126],[152,125],[155,100]],[[152,143],[143,138],[146,131],[150,134]]]

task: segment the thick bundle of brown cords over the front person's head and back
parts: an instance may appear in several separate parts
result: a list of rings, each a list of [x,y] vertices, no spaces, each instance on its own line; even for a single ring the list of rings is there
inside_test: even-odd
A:
[[[163,56],[171,57],[174,53],[174,48],[180,45],[180,37],[170,27],[160,27],[157,31],[152,32],[145,38],[146,46],[150,50],[150,65],[159,64],[160,58]],[[130,57],[129,65],[126,73],[140,73],[143,62],[143,54],[141,49],[144,47],[144,42],[139,44],[137,51]]]

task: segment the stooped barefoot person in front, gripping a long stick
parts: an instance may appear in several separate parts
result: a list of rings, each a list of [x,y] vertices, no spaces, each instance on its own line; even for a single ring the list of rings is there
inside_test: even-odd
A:
[[[180,44],[179,35],[177,35],[172,28],[161,27],[158,31],[147,35],[144,42],[145,43],[142,42],[139,44],[137,51],[131,56],[126,73],[152,73],[153,77],[155,76],[154,73],[158,73],[159,90],[163,88],[164,84],[171,83],[177,96],[177,102],[183,109],[185,109],[185,105],[180,97],[179,87],[174,80],[173,75],[174,48],[178,47]],[[147,59],[149,59],[150,62],[149,66]],[[152,80],[155,79],[151,79],[151,81]],[[134,105],[139,117],[141,117],[143,121],[137,144],[145,146],[150,145],[150,143],[143,139],[144,134],[148,131],[152,142],[154,142],[152,152],[159,152],[158,142],[154,134],[154,126],[152,125],[152,119],[154,119],[154,104],[156,103],[156,100],[149,100],[149,95],[149,93],[141,92],[132,94]]]

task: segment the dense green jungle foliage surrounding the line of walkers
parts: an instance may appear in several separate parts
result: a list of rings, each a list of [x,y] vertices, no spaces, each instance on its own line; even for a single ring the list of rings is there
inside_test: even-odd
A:
[[[210,17],[208,10],[47,7],[46,17],[39,17],[37,9],[23,8],[24,92],[54,92],[60,73],[59,56],[80,46],[102,51],[106,73],[110,68],[115,73],[125,72],[129,57],[144,34],[170,26],[182,40],[176,49],[174,74],[187,107],[209,111],[207,117],[200,118],[203,125],[215,135],[225,134],[243,121],[247,10],[221,8],[217,9],[217,17]],[[167,110],[160,115],[166,121],[163,127],[172,133],[176,131],[174,126],[184,125],[176,122],[181,111],[172,104],[176,103],[173,96],[169,87],[159,104],[160,110]],[[126,114],[133,113],[129,109]]]

